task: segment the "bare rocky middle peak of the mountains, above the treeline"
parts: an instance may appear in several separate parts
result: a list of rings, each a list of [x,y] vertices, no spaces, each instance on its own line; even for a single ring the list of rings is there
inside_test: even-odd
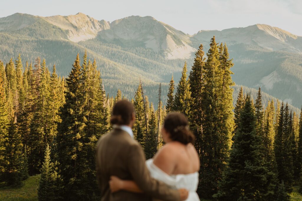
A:
[[[196,51],[190,46],[190,35],[150,16],[115,20],[110,23],[110,29],[99,33],[99,37],[118,40],[121,45],[151,48],[162,52],[167,59],[187,59]]]

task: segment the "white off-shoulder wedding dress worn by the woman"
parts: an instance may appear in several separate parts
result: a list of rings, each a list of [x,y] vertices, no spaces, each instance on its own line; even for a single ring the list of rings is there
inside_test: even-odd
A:
[[[196,193],[198,187],[198,180],[199,180],[198,172],[192,174],[168,175],[153,163],[152,158],[146,161],[146,165],[153,178],[166,183],[172,188],[187,189],[189,191],[189,196],[188,199],[186,199],[186,201],[200,201]]]

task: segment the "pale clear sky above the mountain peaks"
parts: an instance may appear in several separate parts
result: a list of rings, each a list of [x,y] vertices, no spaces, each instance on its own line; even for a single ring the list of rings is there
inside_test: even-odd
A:
[[[17,12],[44,17],[82,12],[112,22],[140,15],[191,35],[268,24],[302,36],[302,0],[1,0],[0,5],[0,18]]]

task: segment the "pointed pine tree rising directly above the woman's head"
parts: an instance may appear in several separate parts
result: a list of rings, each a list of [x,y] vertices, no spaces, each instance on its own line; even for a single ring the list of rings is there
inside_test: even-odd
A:
[[[187,63],[185,62],[185,65],[182,68],[182,77],[176,88],[174,110],[182,112],[186,116],[190,116],[191,104],[190,79],[187,80]]]

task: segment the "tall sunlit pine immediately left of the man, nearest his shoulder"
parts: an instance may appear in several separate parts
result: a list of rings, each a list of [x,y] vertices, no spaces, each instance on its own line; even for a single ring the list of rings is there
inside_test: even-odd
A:
[[[82,68],[82,71],[84,69]],[[102,134],[107,132],[107,123],[104,108],[104,94],[105,91],[102,88],[102,79],[100,72],[97,70],[96,61],[94,59],[91,64],[88,62],[87,66],[88,76],[83,77],[82,82],[88,83],[88,91],[83,93],[84,97],[87,97],[86,107],[84,110],[85,121],[85,136],[83,136],[83,150],[79,159],[79,163],[83,163],[78,179],[79,192],[82,198],[92,199],[92,195],[98,195],[98,185],[96,181],[95,171],[95,148],[98,139]],[[86,163],[86,164],[85,164]]]

